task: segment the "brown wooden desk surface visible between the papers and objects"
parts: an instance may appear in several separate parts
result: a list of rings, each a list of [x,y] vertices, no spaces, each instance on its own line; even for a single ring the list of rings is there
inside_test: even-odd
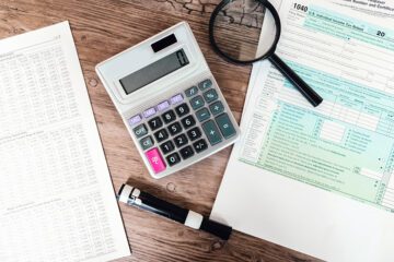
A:
[[[117,190],[131,184],[209,215],[231,148],[170,177],[146,170],[114,105],[94,72],[99,62],[187,21],[219,86],[240,120],[251,67],[224,62],[210,48],[208,21],[219,0],[2,0],[0,38],[69,20],[109,170]],[[120,206],[134,255],[119,261],[316,261],[234,231],[228,242],[137,209]]]

